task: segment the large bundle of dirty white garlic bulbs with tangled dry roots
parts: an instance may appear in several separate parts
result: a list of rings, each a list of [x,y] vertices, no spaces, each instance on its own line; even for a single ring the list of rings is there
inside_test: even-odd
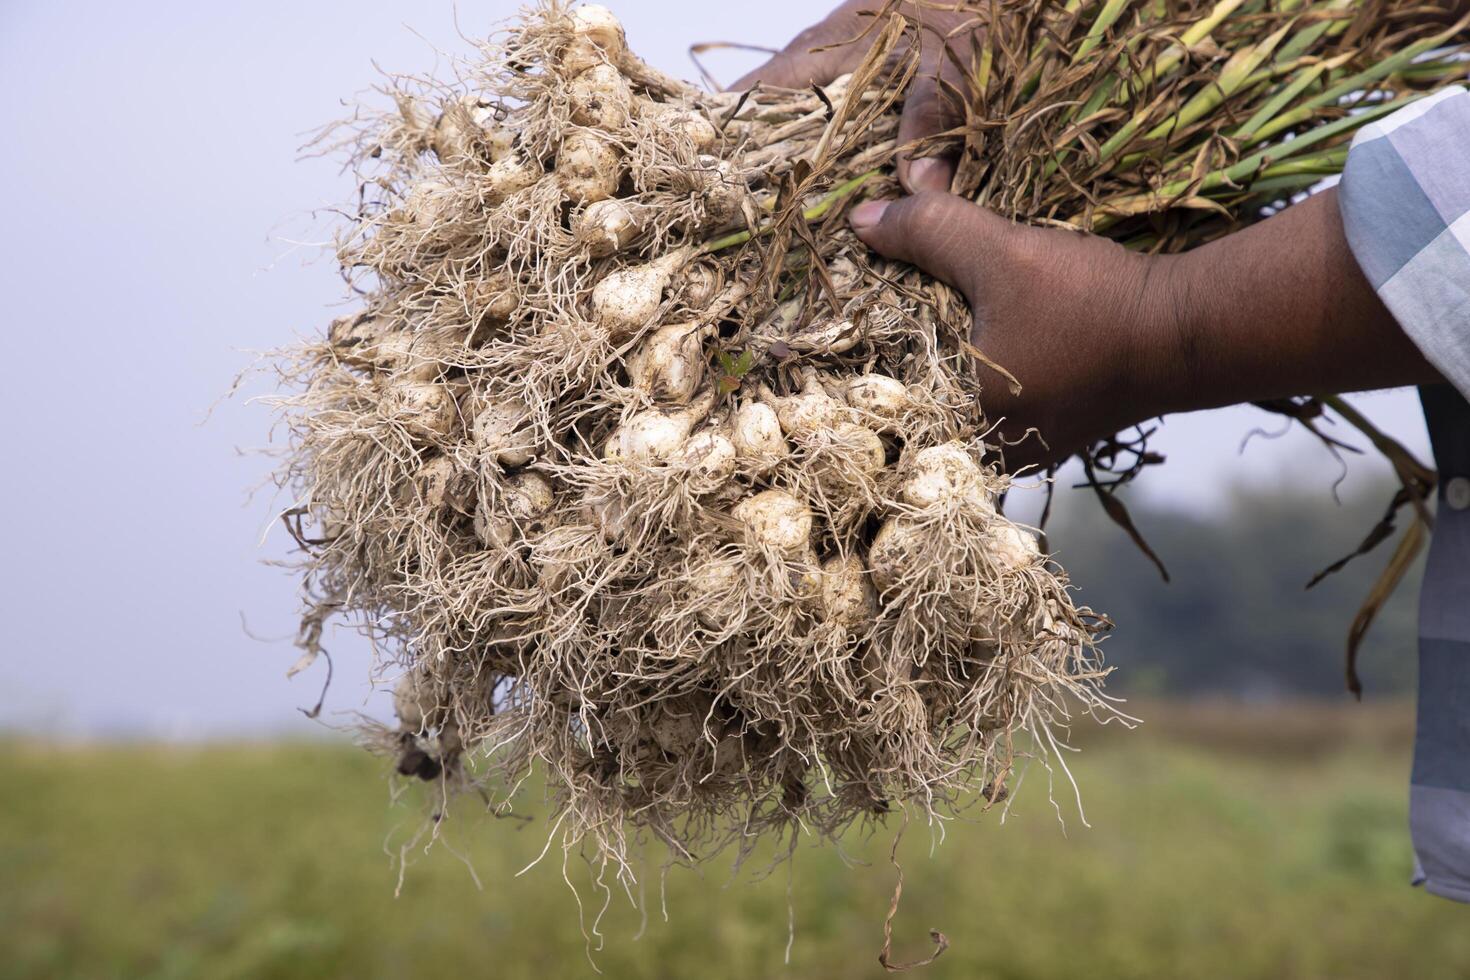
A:
[[[362,309],[282,357],[281,479],[303,644],[341,616],[401,667],[400,771],[501,805],[539,770],[631,874],[648,835],[989,805],[1098,704],[1097,620],[997,510],[963,303],[838,220],[894,188],[900,32],[711,96],[547,3],[356,119]]]

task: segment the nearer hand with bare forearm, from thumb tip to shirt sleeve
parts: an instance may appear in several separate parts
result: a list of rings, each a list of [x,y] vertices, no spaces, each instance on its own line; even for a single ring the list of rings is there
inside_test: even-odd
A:
[[[850,220],[964,294],[975,345],[1022,385],[997,375],[982,395],[1020,441],[1011,470],[1158,414],[1439,381],[1358,269],[1332,190],[1179,256],[939,192],[864,201]]]

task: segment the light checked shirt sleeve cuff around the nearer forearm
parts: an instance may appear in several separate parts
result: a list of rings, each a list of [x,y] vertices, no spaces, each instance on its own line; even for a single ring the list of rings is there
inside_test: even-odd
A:
[[[1470,394],[1470,93],[1446,88],[1364,126],[1338,206],[1369,284]]]

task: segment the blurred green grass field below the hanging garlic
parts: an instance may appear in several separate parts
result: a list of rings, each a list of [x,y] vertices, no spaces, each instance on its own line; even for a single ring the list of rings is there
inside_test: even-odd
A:
[[[1407,886],[1405,708],[1133,707],[1083,732],[1092,829],[1032,771],[1010,820],[911,827],[900,956],[928,977],[1464,977],[1467,909]],[[591,976],[578,908],[522,827],[460,808],[394,898],[385,843],[416,826],[382,767],[335,743],[57,748],[0,742],[3,977]],[[532,808],[534,810],[534,808]],[[864,977],[892,887],[888,833],[847,868],[803,849],[789,967],[786,876],[673,871],[670,923],[637,942],[616,902],[610,977]],[[394,849],[394,848],[390,848]],[[585,867],[572,877],[588,883]],[[584,887],[584,898],[592,895]]]

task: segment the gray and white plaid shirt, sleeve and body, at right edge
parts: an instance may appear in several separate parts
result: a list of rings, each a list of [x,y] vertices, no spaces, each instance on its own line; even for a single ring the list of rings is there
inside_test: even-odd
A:
[[[1419,608],[1410,830],[1414,883],[1470,902],[1470,94],[1449,88],[1364,126],[1338,206],[1369,282],[1449,382],[1420,392],[1439,501]]]

